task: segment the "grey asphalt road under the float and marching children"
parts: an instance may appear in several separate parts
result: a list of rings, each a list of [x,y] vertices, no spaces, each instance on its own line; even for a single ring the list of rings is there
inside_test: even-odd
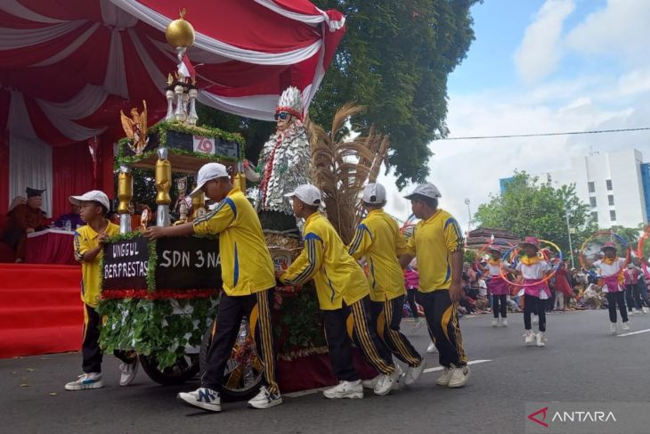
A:
[[[138,373],[118,385],[118,361],[104,361],[104,388],[63,389],[79,373],[80,356],[61,354],[0,360],[0,432],[7,433],[429,433],[524,432],[524,403],[530,401],[647,402],[650,388],[650,315],[631,317],[628,336],[612,336],[605,310],[548,315],[546,348],[524,347],[523,316],[508,328],[492,328],[491,315],[460,320],[470,361],[464,389],[435,386],[438,372],[386,397],[334,400],[320,393],[284,397],[268,410],[244,402],[206,414],[179,405],[178,391],[198,381],[162,387]],[[424,330],[402,327],[425,351]],[[437,355],[427,355],[435,368]],[[647,417],[647,415],[639,415]],[[650,432],[650,420],[648,430]]]

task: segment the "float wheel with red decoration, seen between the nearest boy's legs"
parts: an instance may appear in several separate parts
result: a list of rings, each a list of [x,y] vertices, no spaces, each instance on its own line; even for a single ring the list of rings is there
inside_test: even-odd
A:
[[[201,351],[199,353],[200,372],[203,373],[207,365],[207,352],[212,342],[212,324],[203,335]],[[225,397],[234,399],[247,399],[254,397],[262,384],[264,365],[257,357],[255,342],[250,337],[248,319],[241,321],[240,333],[235,346],[232,348],[231,358],[225,366],[221,393]]]

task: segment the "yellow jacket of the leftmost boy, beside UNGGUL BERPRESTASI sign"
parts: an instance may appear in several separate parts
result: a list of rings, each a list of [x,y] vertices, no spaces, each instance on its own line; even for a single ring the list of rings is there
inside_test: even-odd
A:
[[[108,236],[117,235],[119,233],[119,226],[109,222],[106,226],[106,234]],[[88,250],[93,250],[99,245],[96,233],[89,225],[77,227],[75,231],[75,258],[81,262],[81,299],[90,307],[97,307],[97,301],[100,296],[102,288],[102,268],[100,263],[102,261],[103,251],[93,258],[92,261],[84,261],[84,254]]]

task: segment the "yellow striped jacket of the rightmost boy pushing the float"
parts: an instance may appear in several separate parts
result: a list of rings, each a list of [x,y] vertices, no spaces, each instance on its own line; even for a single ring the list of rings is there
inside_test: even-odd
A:
[[[463,249],[463,235],[456,219],[438,209],[415,226],[407,246],[409,254],[418,258],[418,291],[449,290],[453,275],[451,254]]]

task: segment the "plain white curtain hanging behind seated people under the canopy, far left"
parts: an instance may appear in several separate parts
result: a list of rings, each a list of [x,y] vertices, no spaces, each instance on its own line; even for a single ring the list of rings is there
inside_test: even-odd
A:
[[[52,147],[38,140],[9,135],[9,201],[25,196],[27,187],[44,189],[43,210],[52,217]]]

